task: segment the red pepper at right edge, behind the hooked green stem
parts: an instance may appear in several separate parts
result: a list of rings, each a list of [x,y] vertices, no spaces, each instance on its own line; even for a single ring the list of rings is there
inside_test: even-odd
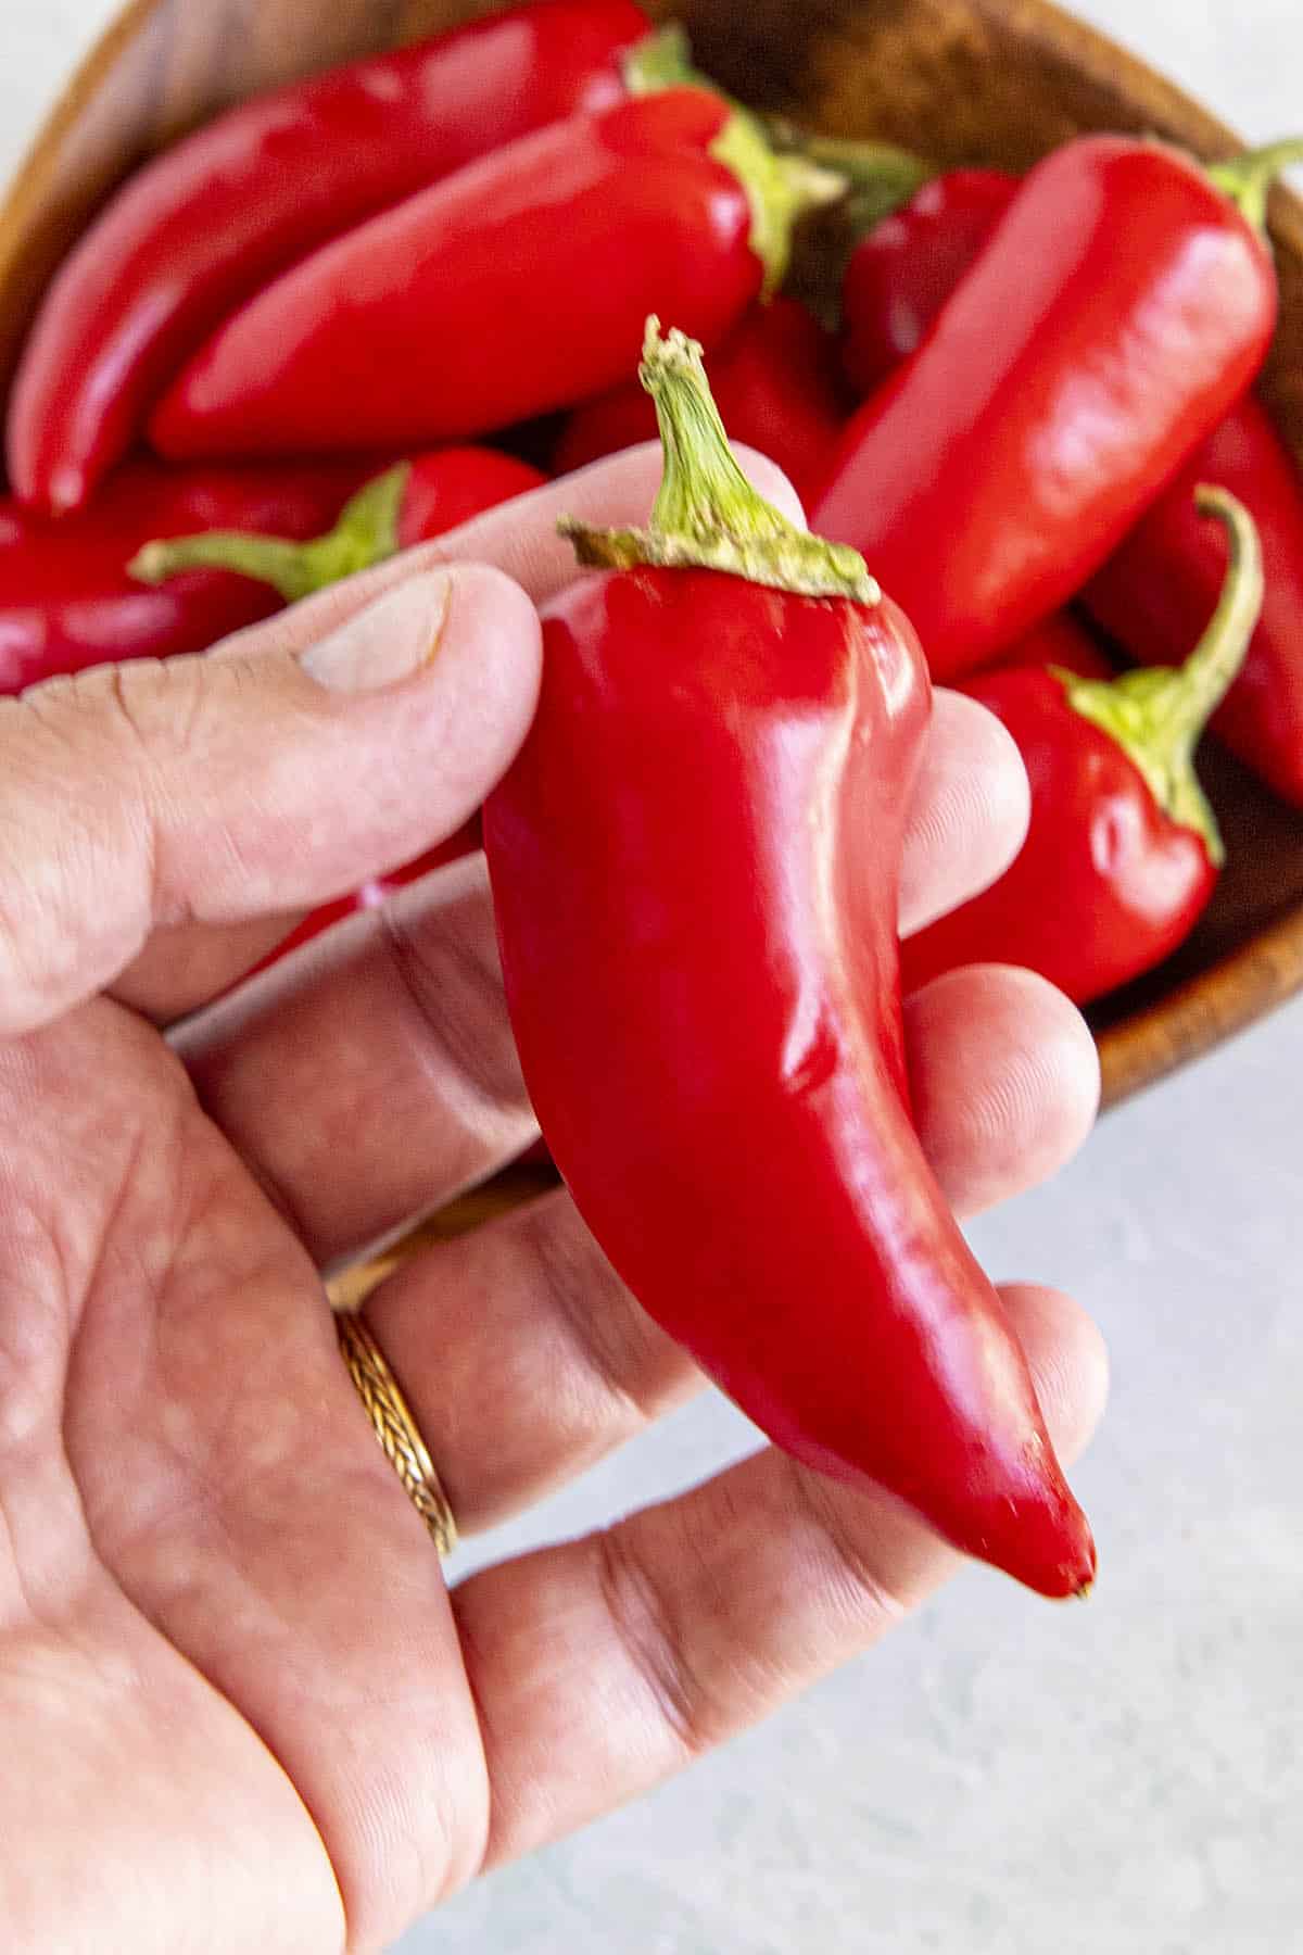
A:
[[[1213,731],[1285,802],[1303,807],[1303,481],[1254,395],[1231,409],[1141,516],[1082,602],[1143,665],[1174,665],[1207,622],[1225,573],[1217,532],[1194,512],[1215,481],[1248,508],[1262,538],[1266,598],[1244,669]]]

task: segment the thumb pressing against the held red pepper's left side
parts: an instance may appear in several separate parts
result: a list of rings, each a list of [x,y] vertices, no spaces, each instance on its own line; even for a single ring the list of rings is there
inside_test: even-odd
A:
[[[399,585],[299,651],[100,667],[0,704],[0,1034],[160,925],[309,909],[451,835],[525,735],[539,622],[500,571]]]

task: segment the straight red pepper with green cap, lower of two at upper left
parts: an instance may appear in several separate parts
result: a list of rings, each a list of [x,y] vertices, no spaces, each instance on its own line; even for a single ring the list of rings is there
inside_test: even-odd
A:
[[[285,274],[150,422],[170,456],[459,440],[615,385],[652,303],[719,342],[840,192],[705,90],[557,123]]]

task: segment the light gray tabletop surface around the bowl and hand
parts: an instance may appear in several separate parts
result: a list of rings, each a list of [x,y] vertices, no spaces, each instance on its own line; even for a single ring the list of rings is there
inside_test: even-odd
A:
[[[797,0],[793,0],[797,4]],[[113,14],[2,0],[0,166]],[[1246,135],[1303,123],[1299,0],[1088,0]],[[973,1234],[1084,1298],[1114,1404],[1088,1607],[983,1572],[688,1779],[402,1955],[1287,1955],[1303,1947],[1303,1003],[1112,1114]],[[707,1400],[481,1552],[752,1439]]]

